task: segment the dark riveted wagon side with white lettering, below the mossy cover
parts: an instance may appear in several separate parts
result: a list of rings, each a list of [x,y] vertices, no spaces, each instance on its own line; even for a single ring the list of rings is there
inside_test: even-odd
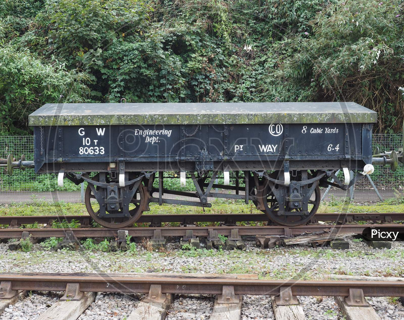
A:
[[[35,160],[55,164],[54,170],[59,164],[70,164],[67,167],[76,166],[76,171],[106,170],[108,162],[118,158],[125,162],[126,171],[162,171],[165,165],[159,162],[187,170],[210,167],[213,162],[251,170],[279,167],[285,158],[291,167],[299,166],[293,161],[317,162],[312,168],[327,168],[330,161],[338,161],[332,162],[332,168],[339,167],[345,161],[348,164],[343,165],[353,167],[362,161],[362,152],[371,155],[368,127],[357,123],[48,126],[43,128],[42,155],[38,154],[41,129],[36,127]]]

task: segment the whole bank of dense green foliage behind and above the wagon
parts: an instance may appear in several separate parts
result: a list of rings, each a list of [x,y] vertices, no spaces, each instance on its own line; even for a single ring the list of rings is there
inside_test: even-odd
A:
[[[404,13],[376,0],[6,0],[0,134],[46,102],[356,101],[398,132]]]

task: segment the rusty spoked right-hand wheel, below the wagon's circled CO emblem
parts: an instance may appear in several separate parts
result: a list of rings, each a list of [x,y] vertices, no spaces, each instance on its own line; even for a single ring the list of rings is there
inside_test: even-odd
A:
[[[309,175],[311,176],[311,175]],[[308,186],[310,187],[310,185]],[[276,200],[274,194],[271,192],[271,188],[269,187],[269,184],[266,185],[265,189],[263,190],[263,194],[266,195],[264,196],[263,199],[263,204],[265,207],[265,210],[263,211],[267,217],[273,221],[274,223],[277,223],[279,225],[286,225],[286,226],[294,226],[294,225],[302,225],[311,220],[311,218],[314,217],[316,214],[318,207],[320,206],[320,187],[316,185],[316,188],[314,189],[314,200],[309,199],[309,205],[312,205],[312,208],[309,209],[309,213],[307,215],[284,215],[284,216],[279,216],[277,213],[279,212],[279,204],[278,201]],[[285,210],[288,210],[289,208],[285,208]],[[293,211],[301,211],[301,209],[292,209],[288,210],[290,212]]]

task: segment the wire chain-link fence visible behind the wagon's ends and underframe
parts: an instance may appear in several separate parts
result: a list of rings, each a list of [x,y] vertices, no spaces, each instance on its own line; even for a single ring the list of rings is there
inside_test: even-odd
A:
[[[373,148],[378,146],[381,152],[398,149],[402,147],[402,139],[402,135],[373,135]],[[34,160],[33,137],[0,137],[0,158],[6,158],[8,154],[12,154],[17,159],[24,154],[26,160]],[[371,177],[383,198],[396,196],[404,188],[404,168],[402,165],[398,166],[396,172],[392,172],[389,166],[375,166],[375,172]],[[240,178],[242,178],[242,173],[240,173]],[[194,183],[190,178],[187,178],[185,187],[180,186],[179,180],[178,172],[164,173],[164,188],[177,191],[195,191]],[[234,185],[235,181],[236,174],[230,172],[231,185]],[[223,184],[223,173],[219,173],[217,183]],[[0,168],[0,203],[25,202],[34,199],[82,202],[82,187],[85,188],[86,185],[75,185],[67,179],[64,180],[63,187],[59,187],[55,174],[36,175],[34,169],[30,168],[27,168],[25,171],[17,169],[11,177],[7,175],[6,168]],[[242,179],[240,179],[240,188],[243,187],[244,184],[242,184]],[[220,192],[221,190],[213,188],[212,191]],[[346,198],[349,197],[349,193],[332,188],[326,199],[330,199],[330,197]],[[378,200],[368,179],[362,179],[356,183],[354,199],[357,201]],[[191,200],[191,198],[187,200]]]

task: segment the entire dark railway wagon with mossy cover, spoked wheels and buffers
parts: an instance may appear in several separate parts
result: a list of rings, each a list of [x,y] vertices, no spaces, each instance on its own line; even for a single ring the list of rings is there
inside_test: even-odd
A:
[[[2,165],[57,173],[59,185],[86,181],[88,213],[105,227],[133,224],[150,202],[205,208],[211,197],[252,201],[274,223],[300,225],[316,213],[319,187],[346,190],[372,163],[402,161],[394,151],[372,158],[376,121],[353,102],[46,104],[29,116],[34,162]],[[165,171],[196,192],[164,188]]]

